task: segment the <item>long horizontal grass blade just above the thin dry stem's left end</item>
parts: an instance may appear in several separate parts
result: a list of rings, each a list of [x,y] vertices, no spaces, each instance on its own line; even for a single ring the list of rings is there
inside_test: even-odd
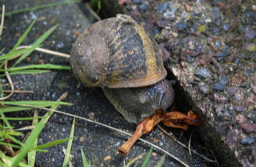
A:
[[[42,106],[42,105],[49,105],[49,106],[53,106],[53,105],[72,105],[70,103],[67,102],[63,102],[63,101],[0,101],[1,104],[9,104],[9,105],[32,105],[32,106]]]

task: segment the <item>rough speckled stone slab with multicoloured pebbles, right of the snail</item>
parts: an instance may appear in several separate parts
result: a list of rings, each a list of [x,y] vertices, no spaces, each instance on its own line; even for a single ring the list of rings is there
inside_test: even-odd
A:
[[[127,0],[118,7],[159,43],[220,164],[254,167],[255,1]]]

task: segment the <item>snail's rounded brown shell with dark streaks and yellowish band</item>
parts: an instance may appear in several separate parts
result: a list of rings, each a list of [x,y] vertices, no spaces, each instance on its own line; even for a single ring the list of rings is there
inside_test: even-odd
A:
[[[79,35],[70,66],[76,78],[90,87],[143,87],[167,75],[157,42],[122,14],[94,23]]]

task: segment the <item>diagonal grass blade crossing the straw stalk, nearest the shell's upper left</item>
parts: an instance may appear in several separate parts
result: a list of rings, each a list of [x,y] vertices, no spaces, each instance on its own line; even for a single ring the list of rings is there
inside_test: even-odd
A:
[[[45,32],[43,35],[41,35],[40,37],[38,37],[38,39],[32,43],[32,46],[38,46],[41,43],[44,42],[44,40],[46,40],[47,37],[49,37],[49,35],[52,34],[52,32],[58,27],[58,25],[53,26],[52,28],[48,29],[47,32]],[[20,63],[22,60],[24,60],[26,57],[28,57],[30,55],[30,53],[32,53],[32,51],[26,52],[23,55],[20,56],[20,58],[18,58],[18,60],[15,62],[15,64],[12,66],[15,67],[17,66],[18,63]]]

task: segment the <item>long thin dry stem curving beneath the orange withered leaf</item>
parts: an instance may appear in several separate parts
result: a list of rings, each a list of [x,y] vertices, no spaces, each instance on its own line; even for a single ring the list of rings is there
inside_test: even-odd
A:
[[[100,125],[102,127],[106,127],[108,129],[111,129],[111,130],[115,130],[117,132],[121,132],[121,133],[124,133],[125,135],[129,135],[129,136],[132,136],[132,134],[128,133],[128,132],[125,132],[125,131],[122,131],[122,130],[119,130],[117,128],[114,128],[114,127],[111,127],[111,126],[108,126],[108,125],[105,125],[105,124],[102,124],[102,123],[99,123],[99,122],[96,122],[96,121],[93,121],[93,120],[90,120],[90,119],[87,119],[87,118],[83,118],[81,116],[78,116],[78,115],[73,115],[73,114],[69,114],[69,113],[66,113],[66,112],[62,112],[62,111],[58,111],[58,110],[55,110],[55,109],[48,109],[48,108],[45,108],[45,107],[38,107],[38,106],[32,106],[32,105],[25,105],[25,104],[17,104],[16,106],[23,106],[23,107],[33,107],[33,108],[38,108],[38,109],[45,109],[47,111],[53,111],[53,112],[57,112],[57,113],[60,113],[60,114],[64,114],[64,115],[68,115],[68,116],[71,116],[71,117],[75,117],[75,118],[79,118],[79,119],[82,119],[82,120],[85,120],[87,122],[91,122],[91,123],[94,123],[94,124],[97,124],[97,125]],[[144,143],[147,143],[155,148],[157,148],[158,150],[161,150],[163,151],[164,153],[166,153],[167,155],[169,155],[170,157],[174,158],[176,161],[180,162],[180,164],[183,164],[185,167],[189,167],[187,164],[185,164],[183,161],[181,161],[180,159],[176,158],[174,155],[172,155],[171,153],[168,153],[166,150],[163,150],[162,148],[158,147],[157,145],[154,145],[148,141],[145,141],[141,138],[139,138],[140,141],[143,141]]]

